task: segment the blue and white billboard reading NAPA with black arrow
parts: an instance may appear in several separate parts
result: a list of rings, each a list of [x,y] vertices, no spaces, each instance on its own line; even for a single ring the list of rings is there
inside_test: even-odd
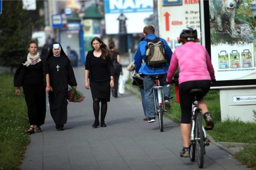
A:
[[[142,33],[153,24],[153,0],[104,1],[106,34]]]

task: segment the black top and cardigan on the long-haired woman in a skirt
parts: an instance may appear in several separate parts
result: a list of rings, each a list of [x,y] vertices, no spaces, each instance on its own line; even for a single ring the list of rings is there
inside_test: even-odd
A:
[[[93,51],[88,51],[85,60],[85,69],[89,70],[88,78],[92,81],[108,81],[110,76],[114,76],[114,66],[110,54],[105,60],[100,57],[95,57]]]

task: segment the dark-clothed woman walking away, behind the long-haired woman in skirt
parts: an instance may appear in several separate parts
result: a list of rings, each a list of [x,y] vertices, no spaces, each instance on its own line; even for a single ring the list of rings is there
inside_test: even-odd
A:
[[[112,88],[112,95],[115,98],[117,98],[119,76],[120,76],[120,73],[123,75],[123,73],[122,73],[122,64],[120,62],[120,53],[115,51],[114,42],[110,42],[108,47],[110,49],[110,56],[111,56],[111,59],[112,59],[113,64],[114,64],[114,84],[115,84],[115,86],[114,86],[114,88]]]

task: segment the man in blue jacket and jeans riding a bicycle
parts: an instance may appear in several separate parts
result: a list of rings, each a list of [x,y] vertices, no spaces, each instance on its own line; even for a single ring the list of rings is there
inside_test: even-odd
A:
[[[146,61],[146,46],[148,40],[154,40],[157,38],[155,35],[155,28],[152,25],[145,26],[143,28],[143,35],[145,36],[144,40],[141,41],[138,45],[137,51],[134,56],[134,65],[136,73],[139,73],[141,77],[143,77],[144,81],[144,94],[145,94],[145,102],[146,102],[146,116],[148,117],[148,122],[155,122],[155,105],[154,105],[154,95],[153,95],[153,87],[155,85],[155,80],[151,78],[152,75],[164,75],[163,78],[160,78],[160,85],[163,86],[163,96],[164,96],[164,104],[166,108],[170,108],[171,104],[169,99],[173,98],[172,95],[169,94],[170,86],[166,83],[166,74],[168,71],[169,63],[172,56],[172,50],[167,44],[167,42],[159,38],[159,40],[163,43],[164,51],[167,59],[167,63],[163,66],[152,67],[148,66],[145,63],[142,64],[142,60]]]

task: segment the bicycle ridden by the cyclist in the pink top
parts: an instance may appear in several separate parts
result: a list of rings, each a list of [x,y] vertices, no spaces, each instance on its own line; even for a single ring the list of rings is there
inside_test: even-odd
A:
[[[205,146],[209,146],[209,142],[206,141],[206,131],[202,125],[201,109],[198,107],[197,101],[197,96],[203,94],[203,89],[191,89],[189,93],[194,95],[191,113],[190,160],[194,162],[197,153],[198,167],[203,168]]]

